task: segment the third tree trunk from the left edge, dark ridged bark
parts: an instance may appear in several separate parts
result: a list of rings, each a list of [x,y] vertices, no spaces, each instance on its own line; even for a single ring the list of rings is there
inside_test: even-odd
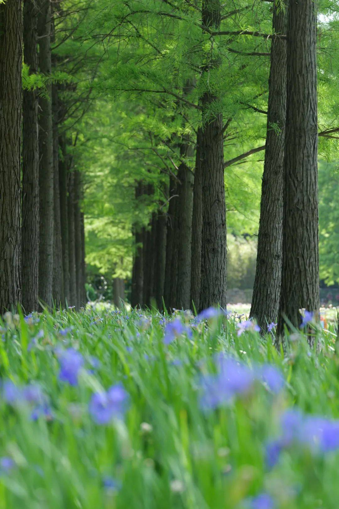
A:
[[[51,73],[51,4],[39,3],[39,68]],[[46,84],[44,96],[39,98],[39,298],[52,305],[53,280],[53,132],[51,86]]]

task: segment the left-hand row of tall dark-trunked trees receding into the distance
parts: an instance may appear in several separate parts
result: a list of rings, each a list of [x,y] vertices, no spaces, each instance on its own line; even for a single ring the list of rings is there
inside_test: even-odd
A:
[[[82,179],[52,55],[58,9],[50,0],[0,3],[1,313],[85,301]]]

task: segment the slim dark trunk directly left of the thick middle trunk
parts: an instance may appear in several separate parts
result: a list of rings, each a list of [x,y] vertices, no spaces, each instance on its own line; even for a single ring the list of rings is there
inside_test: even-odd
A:
[[[199,309],[199,294],[201,282],[201,235],[202,235],[202,165],[201,140],[202,130],[198,128],[196,162],[193,188],[192,213],[192,261],[191,261],[191,305]]]

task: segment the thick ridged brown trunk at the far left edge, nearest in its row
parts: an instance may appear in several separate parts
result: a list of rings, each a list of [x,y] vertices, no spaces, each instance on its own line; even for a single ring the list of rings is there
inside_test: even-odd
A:
[[[0,5],[0,314],[21,301],[22,10]]]

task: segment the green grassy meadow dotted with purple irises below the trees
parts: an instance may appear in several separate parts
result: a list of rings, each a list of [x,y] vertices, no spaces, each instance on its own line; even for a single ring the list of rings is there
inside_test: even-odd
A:
[[[337,509],[334,327],[243,318],[8,313],[0,509]]]

